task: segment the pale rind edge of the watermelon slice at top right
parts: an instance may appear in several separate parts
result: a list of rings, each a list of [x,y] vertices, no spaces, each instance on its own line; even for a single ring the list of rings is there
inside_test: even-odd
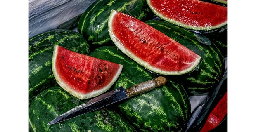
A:
[[[223,27],[225,25],[228,24],[228,21],[225,21],[221,24],[218,24],[216,26],[208,26],[208,27],[199,27],[199,26],[190,26],[190,25],[187,25],[187,24],[183,24],[182,22],[180,21],[175,21],[173,19],[168,19],[166,16],[162,15],[161,13],[157,12],[154,7],[152,7],[152,5],[150,4],[150,1],[151,0],[147,0],[147,5],[149,6],[149,8],[152,10],[152,12],[154,12],[154,14],[156,14],[156,16],[159,16],[161,19],[165,20],[165,21],[168,21],[169,23],[172,23],[172,24],[175,24],[175,25],[178,25],[178,26],[181,26],[181,27],[184,27],[184,28],[188,28],[188,29],[192,29],[192,30],[202,30],[202,31],[208,31],[208,30],[213,30],[213,29],[217,29],[217,28],[220,28],[220,27]]]

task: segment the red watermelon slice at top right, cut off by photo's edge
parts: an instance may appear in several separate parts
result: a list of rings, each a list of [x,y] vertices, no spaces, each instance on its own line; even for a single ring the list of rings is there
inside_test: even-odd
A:
[[[161,19],[192,30],[212,30],[227,24],[227,7],[199,0],[147,0]]]

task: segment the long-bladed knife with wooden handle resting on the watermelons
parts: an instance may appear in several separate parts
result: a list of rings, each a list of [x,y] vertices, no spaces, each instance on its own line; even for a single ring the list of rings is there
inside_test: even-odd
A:
[[[103,108],[110,104],[114,104],[123,99],[127,99],[130,97],[134,97],[138,94],[142,94],[148,92],[150,90],[154,90],[156,87],[160,87],[165,85],[166,78],[159,76],[158,78],[148,80],[146,82],[139,83],[130,87],[128,89],[124,89],[122,86],[117,88],[116,90],[107,92],[98,97],[95,97],[89,100],[87,103],[81,104],[67,111],[66,113],[59,115],[57,118],[53,119],[48,123],[48,125],[60,123],[65,120],[69,120],[71,118],[75,118],[79,115],[83,115],[85,113],[89,113],[95,111],[99,108]]]

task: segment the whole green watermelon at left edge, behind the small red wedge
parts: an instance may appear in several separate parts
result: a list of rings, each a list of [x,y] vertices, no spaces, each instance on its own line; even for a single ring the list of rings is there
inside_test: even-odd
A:
[[[74,52],[89,53],[83,35],[66,29],[47,31],[29,39],[29,103],[37,94],[57,85],[52,73],[54,45],[61,45]]]

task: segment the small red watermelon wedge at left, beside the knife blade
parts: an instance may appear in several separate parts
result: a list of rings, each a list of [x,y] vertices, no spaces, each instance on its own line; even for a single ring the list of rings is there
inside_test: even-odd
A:
[[[55,45],[52,72],[57,83],[79,99],[106,92],[119,77],[123,65],[72,52]]]

